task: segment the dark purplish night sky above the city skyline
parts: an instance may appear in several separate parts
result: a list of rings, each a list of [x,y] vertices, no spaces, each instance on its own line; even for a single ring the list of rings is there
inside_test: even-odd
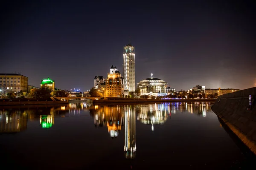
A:
[[[176,90],[255,87],[255,9],[253,0],[5,1],[0,73],[87,91],[111,65],[123,74],[131,36],[136,83],[153,73]]]

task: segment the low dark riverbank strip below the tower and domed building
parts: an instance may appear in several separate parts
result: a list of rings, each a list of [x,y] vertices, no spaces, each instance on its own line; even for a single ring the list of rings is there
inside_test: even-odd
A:
[[[216,99],[104,99],[93,100],[93,104],[109,104],[109,103],[151,103],[151,102],[215,102]]]

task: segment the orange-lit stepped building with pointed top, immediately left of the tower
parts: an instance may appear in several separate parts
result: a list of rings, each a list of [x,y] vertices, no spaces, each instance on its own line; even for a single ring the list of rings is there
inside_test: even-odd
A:
[[[123,94],[123,78],[113,65],[108,73],[108,78],[105,80],[105,88],[100,92],[103,92],[103,97],[120,97]]]

